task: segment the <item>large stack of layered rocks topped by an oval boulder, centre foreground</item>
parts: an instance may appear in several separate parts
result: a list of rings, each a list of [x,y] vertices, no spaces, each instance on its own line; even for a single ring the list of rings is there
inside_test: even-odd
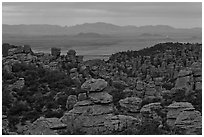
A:
[[[61,118],[61,121],[67,124],[67,132],[90,135],[113,134],[138,124],[139,120],[134,117],[114,115],[113,98],[103,91],[106,86],[107,82],[103,79],[90,79],[82,85],[82,89],[91,92],[88,93],[87,100],[77,102],[73,109]]]

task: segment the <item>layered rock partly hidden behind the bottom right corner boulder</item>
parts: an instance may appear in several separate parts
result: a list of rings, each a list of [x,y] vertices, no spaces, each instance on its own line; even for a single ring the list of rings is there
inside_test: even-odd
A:
[[[174,103],[170,104],[168,106],[167,124],[170,127],[174,127],[176,118],[185,109],[194,110],[194,107],[191,103],[188,103],[188,102],[174,102]]]

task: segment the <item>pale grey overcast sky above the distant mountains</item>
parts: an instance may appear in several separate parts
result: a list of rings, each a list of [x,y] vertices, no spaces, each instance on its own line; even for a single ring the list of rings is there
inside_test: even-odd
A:
[[[3,2],[3,24],[73,26],[106,22],[115,25],[202,27],[201,2]]]

